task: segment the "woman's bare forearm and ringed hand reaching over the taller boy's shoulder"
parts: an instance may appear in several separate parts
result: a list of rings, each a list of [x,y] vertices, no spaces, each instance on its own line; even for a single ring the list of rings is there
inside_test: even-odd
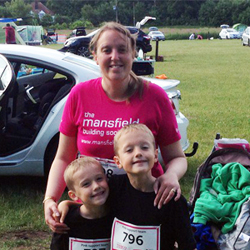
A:
[[[179,180],[187,171],[187,160],[181,148],[180,141],[161,147],[166,172],[157,178],[154,190],[157,193],[154,205],[161,208],[176,194],[175,201],[181,196]],[[176,192],[174,192],[176,191]]]

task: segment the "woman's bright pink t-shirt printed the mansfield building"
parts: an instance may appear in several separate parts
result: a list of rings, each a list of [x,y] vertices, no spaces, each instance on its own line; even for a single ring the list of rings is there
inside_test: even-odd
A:
[[[130,102],[115,102],[104,92],[101,79],[82,82],[72,88],[67,99],[60,132],[77,136],[82,155],[113,159],[113,138],[130,123],[147,125],[155,136],[157,146],[180,140],[177,121],[166,92],[153,83],[144,83],[143,95],[135,93]],[[156,164],[152,173],[163,173]]]

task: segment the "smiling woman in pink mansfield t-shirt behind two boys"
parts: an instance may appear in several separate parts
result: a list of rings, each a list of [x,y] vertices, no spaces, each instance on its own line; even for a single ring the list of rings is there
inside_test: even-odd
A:
[[[180,145],[180,133],[167,94],[155,84],[132,72],[135,38],[122,25],[110,22],[90,43],[102,77],[77,84],[67,100],[60,125],[58,150],[51,166],[44,199],[45,220],[56,232],[67,226],[59,221],[57,201],[65,183],[63,173],[77,152],[113,159],[113,137],[129,123],[144,123],[160,147],[166,172],[159,163],[153,168],[157,178],[155,206],[159,208],[181,195],[179,179],[187,170]]]

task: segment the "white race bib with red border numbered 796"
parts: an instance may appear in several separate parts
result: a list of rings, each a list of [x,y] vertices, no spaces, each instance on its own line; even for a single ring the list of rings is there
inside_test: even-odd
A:
[[[159,250],[160,226],[136,226],[114,219],[111,250]]]

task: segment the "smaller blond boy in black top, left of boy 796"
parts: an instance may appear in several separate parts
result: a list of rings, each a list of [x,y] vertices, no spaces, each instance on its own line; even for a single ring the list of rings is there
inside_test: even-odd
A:
[[[101,164],[91,157],[76,159],[66,168],[64,180],[69,197],[82,204],[69,207],[64,223],[70,230],[54,233],[51,249],[109,250],[113,217],[106,205],[109,187]]]

